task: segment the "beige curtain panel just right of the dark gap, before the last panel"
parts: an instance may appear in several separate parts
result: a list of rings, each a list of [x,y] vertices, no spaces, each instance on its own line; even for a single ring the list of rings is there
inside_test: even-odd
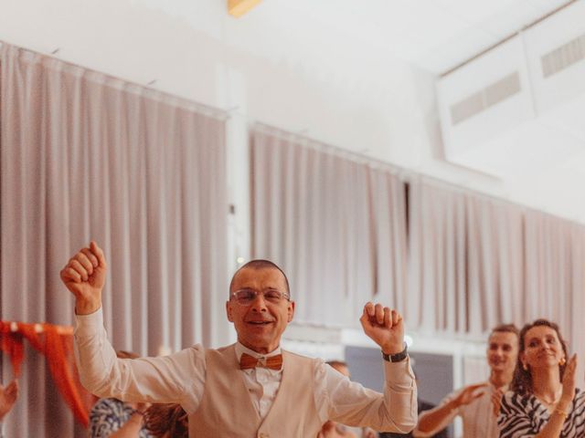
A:
[[[481,335],[521,321],[523,214],[516,205],[410,183],[410,327]]]

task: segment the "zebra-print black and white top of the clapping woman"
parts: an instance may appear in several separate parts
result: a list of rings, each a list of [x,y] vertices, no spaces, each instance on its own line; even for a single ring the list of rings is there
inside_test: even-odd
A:
[[[577,389],[567,420],[559,438],[585,437],[585,392]],[[500,438],[528,438],[535,436],[547,424],[548,412],[534,395],[520,395],[507,391],[502,397],[497,419]]]

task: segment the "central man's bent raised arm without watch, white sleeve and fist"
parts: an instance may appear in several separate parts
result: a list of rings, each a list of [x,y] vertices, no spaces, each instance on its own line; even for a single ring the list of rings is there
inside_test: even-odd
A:
[[[165,358],[117,359],[103,327],[101,290],[106,269],[101,248],[91,242],[60,273],[76,298],[73,339],[81,384],[100,397],[182,402],[188,412],[195,412],[205,388],[205,349],[193,346]]]

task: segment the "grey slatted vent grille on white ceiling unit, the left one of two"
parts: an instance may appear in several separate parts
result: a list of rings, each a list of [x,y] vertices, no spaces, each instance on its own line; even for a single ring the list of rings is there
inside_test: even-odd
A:
[[[481,89],[471,96],[450,107],[452,125],[461,123],[480,112],[487,110],[502,100],[514,96],[520,91],[520,75],[517,71],[493,84]]]

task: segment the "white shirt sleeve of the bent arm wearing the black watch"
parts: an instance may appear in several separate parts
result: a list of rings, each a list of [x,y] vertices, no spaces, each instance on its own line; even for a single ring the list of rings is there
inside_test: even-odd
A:
[[[324,362],[315,369],[315,404],[323,422],[409,433],[417,422],[417,387],[410,359],[384,360],[384,393],[364,388]]]

